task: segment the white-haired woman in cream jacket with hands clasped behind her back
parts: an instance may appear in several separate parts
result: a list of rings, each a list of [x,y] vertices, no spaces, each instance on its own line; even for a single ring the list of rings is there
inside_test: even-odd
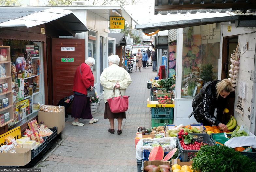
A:
[[[122,121],[125,118],[125,112],[112,113],[110,111],[107,99],[111,98],[113,95],[113,89],[119,88],[122,95],[125,95],[125,90],[131,84],[132,80],[129,73],[118,66],[120,59],[118,55],[112,55],[108,57],[108,65],[106,69],[101,74],[100,83],[103,86],[104,100],[105,100],[105,114],[104,119],[108,119],[110,122],[110,129],[108,132],[114,134],[114,119],[117,118],[118,130],[117,134],[122,133]],[[120,96],[119,90],[115,89],[115,97]]]

